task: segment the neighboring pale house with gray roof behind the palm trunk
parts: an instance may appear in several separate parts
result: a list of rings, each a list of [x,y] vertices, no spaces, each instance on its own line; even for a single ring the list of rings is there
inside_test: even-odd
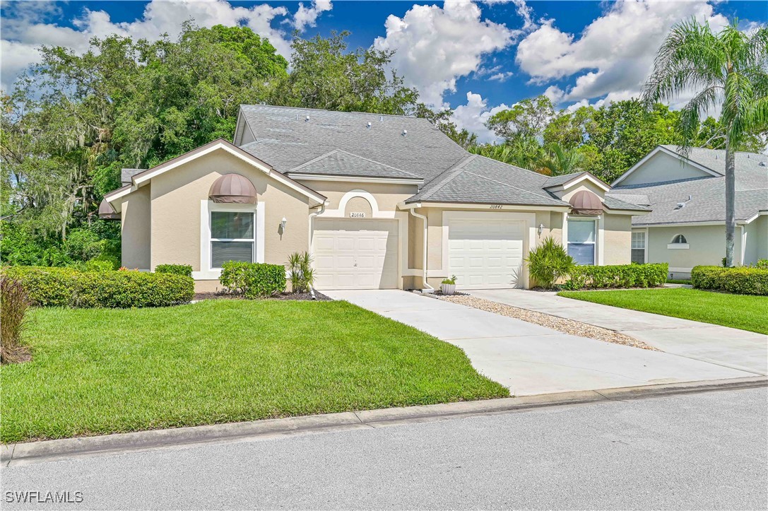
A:
[[[609,197],[650,207],[632,220],[632,260],[669,263],[673,277],[725,257],[725,151],[660,145],[613,183]],[[768,157],[736,154],[736,264],[768,259]]]

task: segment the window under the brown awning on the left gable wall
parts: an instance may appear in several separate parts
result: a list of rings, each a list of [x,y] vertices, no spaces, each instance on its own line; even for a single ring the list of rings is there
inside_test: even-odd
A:
[[[230,260],[253,263],[252,211],[210,212],[210,267],[220,268]]]

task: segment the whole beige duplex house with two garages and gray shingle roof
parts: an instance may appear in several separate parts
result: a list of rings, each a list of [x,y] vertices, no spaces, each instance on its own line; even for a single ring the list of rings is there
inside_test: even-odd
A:
[[[310,251],[319,289],[529,287],[544,237],[581,264],[627,264],[631,218],[586,172],[549,178],[469,154],[429,121],[242,105],[217,140],[149,170],[124,169],[102,217],[122,264],[190,264],[214,289],[227,260],[284,264]]]

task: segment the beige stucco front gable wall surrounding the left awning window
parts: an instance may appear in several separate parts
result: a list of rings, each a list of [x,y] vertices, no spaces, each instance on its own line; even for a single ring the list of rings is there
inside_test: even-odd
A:
[[[264,262],[284,264],[289,254],[307,251],[309,200],[258,168],[218,150],[152,179],[151,268],[157,264],[190,264],[200,268],[200,201],[223,174],[237,173],[253,182],[264,205]],[[281,219],[287,220],[280,236]],[[208,268],[202,268],[207,270]]]

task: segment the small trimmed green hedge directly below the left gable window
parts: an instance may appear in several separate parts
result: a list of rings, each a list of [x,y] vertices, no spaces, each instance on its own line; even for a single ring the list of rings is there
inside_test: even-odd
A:
[[[246,298],[263,298],[286,290],[286,268],[282,264],[243,263],[230,260],[221,266],[221,285]]]

